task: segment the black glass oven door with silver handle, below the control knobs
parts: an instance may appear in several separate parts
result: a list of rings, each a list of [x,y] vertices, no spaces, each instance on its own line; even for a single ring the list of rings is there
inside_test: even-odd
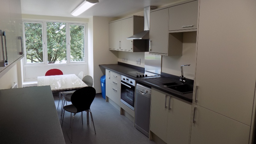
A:
[[[121,81],[121,102],[134,111],[135,86]]]

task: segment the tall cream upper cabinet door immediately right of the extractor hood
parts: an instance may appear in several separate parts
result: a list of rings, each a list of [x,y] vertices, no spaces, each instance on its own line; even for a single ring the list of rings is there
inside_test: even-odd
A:
[[[166,54],[168,52],[168,8],[150,12],[150,54]]]

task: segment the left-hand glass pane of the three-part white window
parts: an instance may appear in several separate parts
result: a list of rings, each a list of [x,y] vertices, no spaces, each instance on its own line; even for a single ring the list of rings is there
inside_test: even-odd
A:
[[[43,36],[41,23],[24,23],[27,63],[43,62]]]

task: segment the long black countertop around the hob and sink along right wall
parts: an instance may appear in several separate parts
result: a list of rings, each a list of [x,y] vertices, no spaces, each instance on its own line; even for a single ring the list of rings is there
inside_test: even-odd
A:
[[[158,84],[158,83],[152,83],[152,80],[148,79],[148,78],[160,78],[161,81],[164,82],[164,83],[170,83],[170,82],[173,82],[173,81],[180,83],[177,80],[165,77],[166,75],[165,76],[160,76],[160,75],[159,76],[150,76],[150,77],[133,77],[133,76],[125,74],[125,72],[128,72],[128,71],[138,71],[138,70],[141,70],[141,69],[136,69],[136,67],[131,68],[131,67],[120,65],[120,64],[105,64],[105,65],[99,65],[99,66],[102,67],[102,68],[108,69],[110,71],[113,71],[115,73],[118,73],[120,75],[132,78],[136,82],[139,82],[139,83],[146,84],[148,86],[154,87],[154,88],[156,88],[156,89],[158,89],[160,91],[169,93],[169,94],[171,94],[173,96],[176,96],[176,97],[178,97],[180,99],[183,99],[183,100],[186,100],[188,102],[192,102],[192,100],[193,100],[193,92],[181,94],[179,92],[175,92],[173,90],[170,90],[168,88],[160,86],[160,84]],[[147,79],[148,79],[148,81],[146,81]]]

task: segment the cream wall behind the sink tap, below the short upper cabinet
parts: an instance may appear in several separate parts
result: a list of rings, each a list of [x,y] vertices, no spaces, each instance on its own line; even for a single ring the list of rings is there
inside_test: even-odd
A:
[[[163,56],[162,72],[181,76],[181,65],[191,64],[183,67],[184,76],[189,79],[195,78],[196,68],[196,31],[183,33],[182,56]]]

